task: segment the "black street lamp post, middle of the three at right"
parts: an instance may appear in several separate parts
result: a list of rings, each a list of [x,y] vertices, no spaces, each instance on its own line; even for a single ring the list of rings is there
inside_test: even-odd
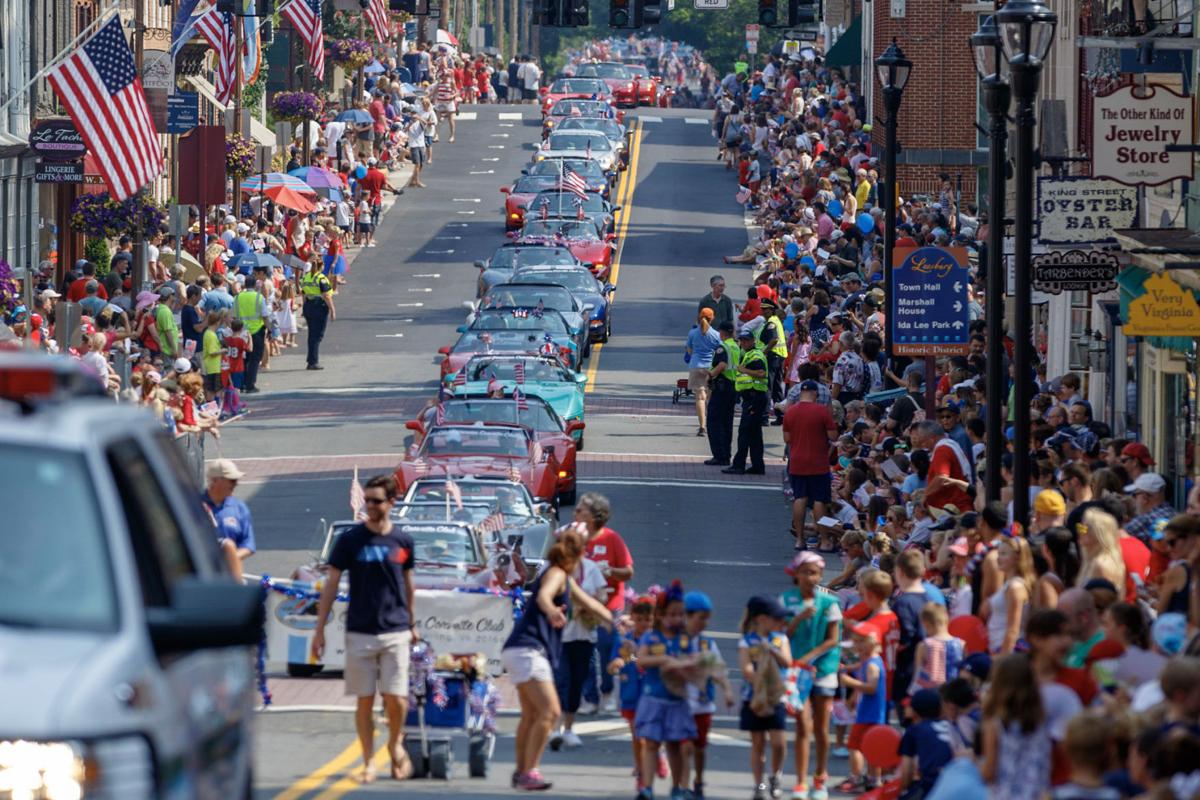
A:
[[[979,30],[971,35],[976,72],[983,88],[984,106],[990,122],[988,136],[988,297],[984,315],[988,320],[988,404],[984,414],[986,450],[984,494],[988,501],[1000,499],[1001,457],[1004,455],[1004,162],[1008,144],[1008,65],[996,22],[984,17]],[[1020,408],[1020,407],[1018,407]]]

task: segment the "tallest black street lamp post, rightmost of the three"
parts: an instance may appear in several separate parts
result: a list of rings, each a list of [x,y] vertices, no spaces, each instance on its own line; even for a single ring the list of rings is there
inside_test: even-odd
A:
[[[1058,17],[1038,0],[1009,0],[996,12],[1004,58],[1012,73],[1013,96],[1016,98],[1016,213],[1013,233],[1014,331],[1016,342],[1013,359],[1014,420],[1013,445],[1013,521],[1028,529],[1030,518],[1030,405],[1033,402],[1033,172],[1038,156],[1033,148],[1037,115],[1033,102],[1038,95],[1042,65],[1054,42]],[[992,391],[991,386],[988,387]]]

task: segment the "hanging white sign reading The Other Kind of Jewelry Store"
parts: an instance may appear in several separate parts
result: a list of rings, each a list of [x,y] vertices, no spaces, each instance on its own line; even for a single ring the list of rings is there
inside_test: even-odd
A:
[[[1192,143],[1192,98],[1166,86],[1122,86],[1094,101],[1093,178],[1129,186],[1190,179],[1192,154],[1166,152],[1166,145]]]

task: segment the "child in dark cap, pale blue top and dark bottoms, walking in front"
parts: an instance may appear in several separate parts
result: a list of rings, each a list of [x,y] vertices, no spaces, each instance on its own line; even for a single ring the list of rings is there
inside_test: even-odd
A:
[[[739,727],[750,732],[750,771],[754,800],[778,798],[782,786],[787,748],[787,714],[784,709],[781,670],[792,666],[792,649],[781,628],[787,612],[774,597],[755,595],[742,619],[738,661],[742,667],[742,714]],[[772,691],[778,684],[778,692]],[[766,685],[764,690],[761,690]],[[757,699],[762,700],[755,703]],[[766,696],[766,697],[763,697]],[[764,781],[767,738],[770,738],[770,776]]]

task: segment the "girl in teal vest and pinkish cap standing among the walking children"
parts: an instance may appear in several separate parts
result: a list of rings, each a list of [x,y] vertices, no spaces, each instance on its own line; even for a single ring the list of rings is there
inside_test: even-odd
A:
[[[796,584],[780,596],[791,619],[787,636],[792,657],[802,668],[812,670],[812,690],[804,711],[796,717],[796,786],[793,798],[826,800],[829,792],[829,715],[838,693],[838,662],[841,658],[841,607],[838,597],[821,587],[824,559],[804,551],[792,559],[786,572]],[[816,739],[816,764],[812,793],[809,794],[809,745]]]

